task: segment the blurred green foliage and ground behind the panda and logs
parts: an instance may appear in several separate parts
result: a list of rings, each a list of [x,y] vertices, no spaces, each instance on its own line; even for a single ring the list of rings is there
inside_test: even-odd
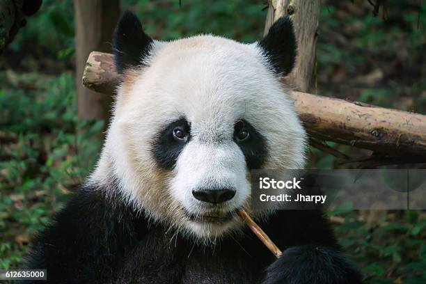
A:
[[[313,93],[425,114],[426,3],[386,3],[374,16],[369,1],[322,1]],[[246,0],[120,1],[120,10],[134,11],[161,40],[213,33],[253,42],[262,37],[265,7]],[[22,265],[31,236],[84,181],[102,145],[104,121],[77,118],[74,17],[73,1],[42,1],[1,54],[0,269]],[[108,49],[111,38],[103,44]],[[329,145],[352,157],[365,151]],[[310,168],[355,166],[309,151]],[[368,283],[426,283],[426,212],[327,214]]]

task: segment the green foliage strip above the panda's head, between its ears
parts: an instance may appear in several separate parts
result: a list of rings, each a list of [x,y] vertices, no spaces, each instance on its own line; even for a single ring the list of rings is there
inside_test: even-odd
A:
[[[254,42],[262,38],[266,13],[262,1],[126,0],[123,8],[131,8],[142,19],[144,29],[161,40],[195,36],[200,33]]]

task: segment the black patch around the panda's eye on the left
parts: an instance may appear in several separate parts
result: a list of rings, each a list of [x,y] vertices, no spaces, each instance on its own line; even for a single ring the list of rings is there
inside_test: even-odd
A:
[[[186,133],[187,139],[176,139],[176,131],[179,129],[181,132]],[[191,128],[185,118],[180,118],[164,127],[159,132],[157,138],[152,144],[152,154],[160,168],[167,170],[173,169],[178,160],[180,152],[190,139]]]

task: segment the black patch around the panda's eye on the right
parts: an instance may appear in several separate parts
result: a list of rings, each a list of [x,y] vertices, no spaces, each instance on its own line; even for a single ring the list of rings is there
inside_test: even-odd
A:
[[[238,120],[234,127],[234,141],[246,157],[249,169],[262,168],[267,159],[267,143],[262,134],[246,120]]]

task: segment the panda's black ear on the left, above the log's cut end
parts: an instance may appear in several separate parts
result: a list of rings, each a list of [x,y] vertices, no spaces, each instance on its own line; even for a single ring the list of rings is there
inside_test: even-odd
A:
[[[123,73],[126,68],[143,65],[143,58],[150,52],[152,38],[143,32],[142,24],[132,12],[121,16],[113,36],[113,51],[116,70]]]

